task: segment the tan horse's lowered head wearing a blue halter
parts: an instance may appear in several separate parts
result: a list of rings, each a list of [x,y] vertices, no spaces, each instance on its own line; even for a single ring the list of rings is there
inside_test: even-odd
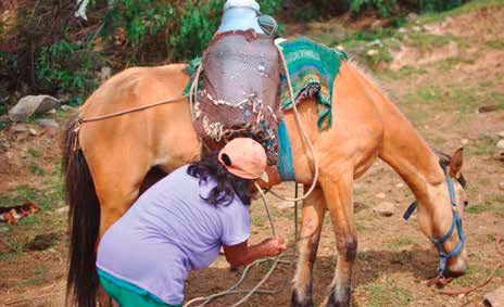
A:
[[[436,197],[436,206],[443,209],[434,215],[433,225],[439,227],[440,233],[431,238],[440,253],[438,272],[445,276],[462,276],[466,271],[466,251],[464,248],[465,234],[462,226],[468,201],[465,194],[466,181],[462,175],[463,149],[455,151],[453,156],[438,153],[440,166],[445,180],[441,192]],[[449,229],[446,232],[445,230]]]

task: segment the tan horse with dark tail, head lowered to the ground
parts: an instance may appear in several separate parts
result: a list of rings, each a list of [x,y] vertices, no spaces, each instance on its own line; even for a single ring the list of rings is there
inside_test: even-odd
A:
[[[90,118],[180,97],[188,82],[185,65],[129,68],[104,82],[81,107]],[[299,106],[307,135],[319,159],[317,188],[305,200],[299,260],[292,293],[293,306],[312,306],[312,270],[326,210],[329,210],[339,255],[330,295],[325,306],[348,306],[357,238],[352,184],[380,157],[395,169],[414,192],[421,231],[442,238],[452,227],[446,174],[440,158],[398,107],[356,66],[342,62],[333,84],[332,127],[317,127],[315,101]],[[313,180],[313,161],[292,112],[286,112],[297,182]],[[94,306],[98,280],[94,248],[99,238],[138,197],[150,169],[171,172],[200,155],[201,144],[191,124],[186,100],[85,123],[79,132],[71,121],[64,140],[64,174],[72,229],[68,297],[78,306]],[[77,146],[76,146],[77,144]],[[449,162],[448,176],[457,178],[462,150]],[[270,184],[280,182],[268,169]],[[465,202],[455,182],[457,203]],[[458,208],[457,208],[458,209]],[[459,209],[463,214],[463,209]],[[441,245],[446,253],[459,243],[455,229]],[[462,244],[461,244],[462,245]],[[335,251],[336,252],[336,251]],[[464,251],[448,259],[446,272],[465,272]]]

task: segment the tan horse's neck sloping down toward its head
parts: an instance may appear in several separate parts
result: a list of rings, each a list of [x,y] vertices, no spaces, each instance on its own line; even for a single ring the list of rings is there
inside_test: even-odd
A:
[[[431,189],[444,180],[439,158],[399,108],[380,91],[377,95],[383,121],[380,157],[403,178],[417,200],[430,203]]]

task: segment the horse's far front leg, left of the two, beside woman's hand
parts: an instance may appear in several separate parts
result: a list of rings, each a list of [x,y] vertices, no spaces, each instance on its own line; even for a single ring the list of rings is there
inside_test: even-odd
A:
[[[307,189],[308,187],[305,187]],[[318,241],[326,214],[326,200],[320,188],[316,188],[304,201],[299,236],[299,258],[292,292],[292,306],[313,306],[313,264],[317,256]]]

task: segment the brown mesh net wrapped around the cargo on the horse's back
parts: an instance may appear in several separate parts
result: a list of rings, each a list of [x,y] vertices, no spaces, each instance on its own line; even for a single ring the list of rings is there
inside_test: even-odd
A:
[[[273,38],[254,31],[216,35],[203,53],[203,88],[193,105],[197,133],[211,149],[236,137],[262,143],[268,164],[279,154],[280,62]]]

